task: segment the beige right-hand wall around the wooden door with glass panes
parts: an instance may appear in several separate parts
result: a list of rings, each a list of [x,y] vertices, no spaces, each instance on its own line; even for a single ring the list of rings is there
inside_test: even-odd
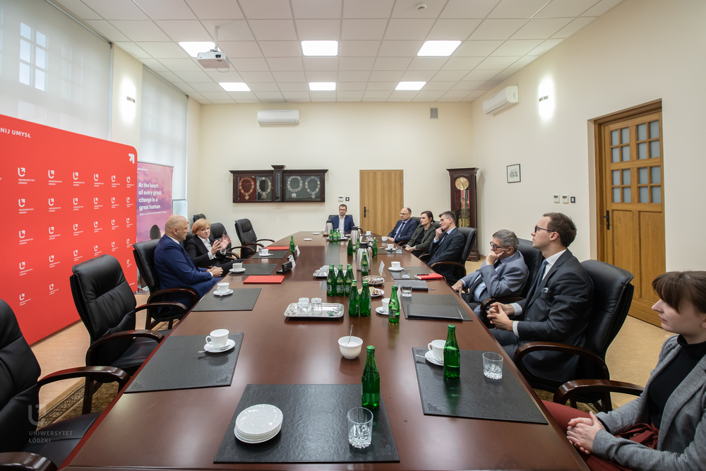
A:
[[[591,120],[662,99],[667,270],[703,269],[706,247],[686,234],[706,228],[706,160],[695,146],[706,92],[703,47],[706,2],[626,0],[472,103],[470,150],[479,178],[481,242],[498,227],[528,237],[546,211],[571,215],[579,234],[571,249],[595,257],[594,151]],[[555,111],[538,114],[538,87],[554,82]],[[519,85],[520,103],[495,117],[481,103]],[[505,166],[522,165],[522,183],[505,182]],[[577,196],[553,203],[554,193]],[[696,208],[696,209],[695,209]]]

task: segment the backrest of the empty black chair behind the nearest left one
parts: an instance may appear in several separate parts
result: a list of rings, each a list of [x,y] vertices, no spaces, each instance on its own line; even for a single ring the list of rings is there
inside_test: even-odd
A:
[[[152,241],[155,242],[155,241]],[[73,266],[71,294],[91,343],[111,333],[135,328],[135,295],[114,256],[101,255]],[[131,338],[101,345],[96,364],[112,364]]]

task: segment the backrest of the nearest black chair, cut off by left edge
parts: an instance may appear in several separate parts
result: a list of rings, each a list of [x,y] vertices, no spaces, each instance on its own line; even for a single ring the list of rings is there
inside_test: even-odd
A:
[[[0,453],[20,451],[37,429],[39,377],[15,313],[0,299]]]

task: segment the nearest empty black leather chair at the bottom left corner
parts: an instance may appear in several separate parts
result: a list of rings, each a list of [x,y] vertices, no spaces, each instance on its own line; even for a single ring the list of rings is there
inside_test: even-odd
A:
[[[64,369],[37,381],[40,365],[20,331],[8,304],[0,300],[0,469],[54,471],[73,451],[98,413],[54,422],[37,430],[39,390],[54,381],[71,378],[117,381],[125,386],[129,376],[111,366]],[[90,411],[90,398],[88,410]],[[87,406],[84,403],[84,408]],[[42,438],[50,438],[42,440]]]

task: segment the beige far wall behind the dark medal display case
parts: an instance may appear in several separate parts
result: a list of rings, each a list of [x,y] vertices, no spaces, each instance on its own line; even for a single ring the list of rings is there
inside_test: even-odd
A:
[[[203,105],[198,210],[233,233],[234,220],[243,217],[258,237],[320,231],[336,213],[339,195],[350,197],[349,214],[360,222],[360,169],[404,169],[405,205],[415,215],[427,209],[438,214],[450,204],[446,169],[472,165],[469,104],[436,105],[439,119],[433,120],[429,103]],[[260,126],[259,109],[299,109],[300,124]],[[326,202],[232,203],[228,171],[270,165],[328,169]]]

